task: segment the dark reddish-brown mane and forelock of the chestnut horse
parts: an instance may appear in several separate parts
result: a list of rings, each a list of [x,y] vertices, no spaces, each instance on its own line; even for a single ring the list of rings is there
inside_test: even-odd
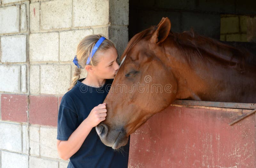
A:
[[[133,36],[127,44],[121,60],[140,40],[149,39],[156,29],[157,26],[151,26]],[[189,65],[191,65],[192,57],[195,55],[204,60],[205,58],[202,53],[206,53],[204,55],[209,55],[211,59],[217,60],[222,64],[230,66],[239,65],[238,68],[241,72],[244,71],[245,62],[256,65],[256,57],[253,57],[252,53],[245,48],[237,48],[221,43],[210,37],[198,35],[193,29],[182,33],[173,33],[170,31],[169,36],[173,37],[174,42],[177,44],[181,54],[186,58]]]

